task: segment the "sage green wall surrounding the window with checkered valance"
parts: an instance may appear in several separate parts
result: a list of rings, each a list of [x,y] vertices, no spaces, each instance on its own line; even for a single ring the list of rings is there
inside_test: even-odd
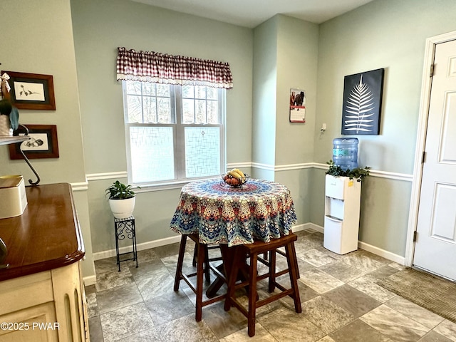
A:
[[[102,174],[101,180],[89,177],[93,251],[104,252],[115,248],[104,197],[115,179],[106,174],[127,171],[122,85],[115,80],[117,47],[228,62],[234,88],[227,90],[227,162],[250,162],[253,32],[133,1],[75,0],[71,6],[86,173]],[[179,194],[180,189],[138,194],[138,244],[177,236],[169,227]]]

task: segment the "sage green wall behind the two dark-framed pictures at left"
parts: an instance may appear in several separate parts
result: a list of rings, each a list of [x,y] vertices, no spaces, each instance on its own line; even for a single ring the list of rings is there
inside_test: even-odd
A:
[[[3,0],[0,14],[1,70],[53,76],[56,110],[19,110],[21,124],[57,125],[60,157],[31,160],[41,177],[40,184],[84,183],[86,171],[70,1]],[[11,174],[36,180],[24,160],[9,160],[8,148],[0,146],[0,175]],[[93,276],[87,194],[78,191],[74,198],[86,246],[83,273]]]

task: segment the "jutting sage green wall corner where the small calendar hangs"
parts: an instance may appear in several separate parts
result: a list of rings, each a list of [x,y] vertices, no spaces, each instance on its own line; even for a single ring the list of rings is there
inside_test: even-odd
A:
[[[291,190],[296,224],[310,220],[310,169],[280,170],[314,158],[318,25],[276,15],[254,28],[254,177]],[[306,123],[289,122],[290,88],[306,92]]]

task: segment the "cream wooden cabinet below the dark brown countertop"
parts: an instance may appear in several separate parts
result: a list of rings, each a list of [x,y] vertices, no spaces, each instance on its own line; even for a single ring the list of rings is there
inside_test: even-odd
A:
[[[88,341],[80,262],[0,281],[0,342]]]

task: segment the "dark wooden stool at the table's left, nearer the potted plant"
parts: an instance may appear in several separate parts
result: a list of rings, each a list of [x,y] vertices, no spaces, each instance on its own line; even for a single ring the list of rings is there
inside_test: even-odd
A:
[[[184,264],[185,244],[187,243],[187,237],[190,237],[190,239],[192,239],[195,242],[197,271],[194,273],[191,273],[191,274],[182,273],[182,265]],[[195,260],[195,256],[193,259]],[[207,263],[206,263],[206,261],[207,261]],[[213,271],[215,271],[218,276],[223,276],[222,274],[219,274],[219,271],[215,267],[212,267],[212,265],[209,264],[209,261],[212,261],[212,259],[209,259],[209,257],[208,257],[207,244],[199,243],[198,234],[182,234],[182,237],[180,239],[179,257],[177,258],[177,269],[176,269],[176,276],[175,276],[175,281],[174,281],[174,291],[179,290],[180,281],[184,280],[187,283],[187,285],[190,286],[190,289],[192,289],[192,291],[195,292],[195,294],[197,295],[196,313],[195,313],[195,319],[197,322],[201,321],[201,319],[202,319],[202,307],[203,306],[207,306],[209,304],[215,303],[216,301],[221,301],[222,299],[224,299],[227,296],[226,294],[222,294],[222,295],[216,296],[214,298],[208,299],[207,301],[202,300],[202,282],[203,282],[204,273],[206,273],[206,279],[210,279],[209,269],[212,269]],[[207,266],[204,267],[204,264],[206,264]],[[192,276],[197,277],[196,287],[190,280],[190,278]],[[222,279],[224,279],[224,277]]]

